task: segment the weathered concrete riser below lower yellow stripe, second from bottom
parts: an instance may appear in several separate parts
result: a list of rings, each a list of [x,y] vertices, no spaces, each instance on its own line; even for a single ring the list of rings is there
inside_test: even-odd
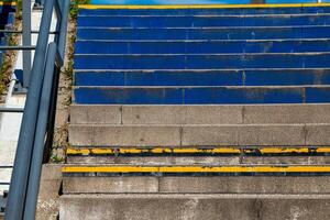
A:
[[[70,176],[63,178],[63,190],[64,194],[320,195],[330,194],[330,185],[327,176]]]

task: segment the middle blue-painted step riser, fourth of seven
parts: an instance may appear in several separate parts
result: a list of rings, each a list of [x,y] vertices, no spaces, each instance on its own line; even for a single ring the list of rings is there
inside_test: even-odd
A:
[[[329,40],[278,41],[77,41],[76,54],[220,54],[329,52]]]

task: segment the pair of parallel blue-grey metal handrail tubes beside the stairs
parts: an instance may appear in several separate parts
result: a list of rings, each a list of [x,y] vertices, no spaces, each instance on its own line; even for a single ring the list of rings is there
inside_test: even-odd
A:
[[[44,150],[51,147],[54,132],[58,76],[64,61],[69,4],[69,0],[47,0],[43,6],[6,220],[35,218]],[[61,16],[57,16],[58,34],[55,42],[48,44],[53,9]],[[45,138],[48,141],[45,142]]]

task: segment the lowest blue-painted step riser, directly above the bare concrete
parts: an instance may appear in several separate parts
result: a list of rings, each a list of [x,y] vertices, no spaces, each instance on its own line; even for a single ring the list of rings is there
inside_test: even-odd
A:
[[[330,102],[330,87],[76,87],[84,105],[252,105]]]

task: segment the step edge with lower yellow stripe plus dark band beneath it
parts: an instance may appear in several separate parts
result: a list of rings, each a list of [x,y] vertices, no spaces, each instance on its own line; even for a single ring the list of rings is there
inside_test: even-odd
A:
[[[66,164],[64,177],[330,176],[328,164],[124,165]]]

